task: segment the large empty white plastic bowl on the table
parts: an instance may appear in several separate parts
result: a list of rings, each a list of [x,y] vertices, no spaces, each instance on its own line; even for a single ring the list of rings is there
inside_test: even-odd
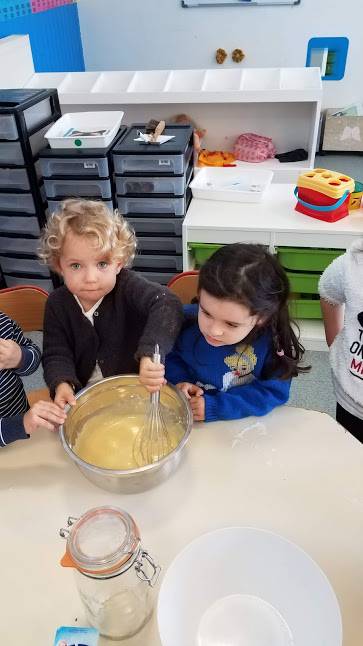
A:
[[[333,589],[299,547],[230,527],[185,547],[161,585],[163,646],[341,646]]]

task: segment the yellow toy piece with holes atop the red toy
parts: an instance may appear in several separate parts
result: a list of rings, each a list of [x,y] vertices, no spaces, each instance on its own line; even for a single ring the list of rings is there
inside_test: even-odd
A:
[[[311,191],[323,193],[328,197],[339,200],[346,191],[354,191],[354,179],[344,173],[337,173],[334,170],[315,168],[301,173],[297,180],[298,187],[308,188]]]

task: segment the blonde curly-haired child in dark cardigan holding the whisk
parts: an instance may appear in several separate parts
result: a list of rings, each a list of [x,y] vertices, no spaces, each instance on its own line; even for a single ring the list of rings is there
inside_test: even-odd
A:
[[[136,239],[126,220],[92,200],[65,200],[48,219],[40,257],[63,277],[44,317],[44,378],[56,404],[104,377],[139,372],[149,392],[165,383],[162,362],[178,336],[183,309],[166,287],[127,269]]]

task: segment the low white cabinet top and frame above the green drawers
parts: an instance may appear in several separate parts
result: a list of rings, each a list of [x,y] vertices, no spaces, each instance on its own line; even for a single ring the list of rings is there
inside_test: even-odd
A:
[[[258,204],[193,198],[183,223],[184,271],[190,266],[188,242],[346,249],[363,235],[363,211],[351,211],[330,224],[295,211],[295,184],[270,184]]]

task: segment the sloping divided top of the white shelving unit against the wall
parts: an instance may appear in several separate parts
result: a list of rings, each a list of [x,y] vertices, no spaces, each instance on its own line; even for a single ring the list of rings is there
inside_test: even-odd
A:
[[[144,70],[120,72],[44,72],[34,74],[26,87],[56,83],[67,104],[93,104],[122,100],[133,103],[260,103],[317,101],[321,94],[320,70],[302,68],[250,68],[241,70]],[[243,96],[241,96],[243,92]],[[86,101],[88,103],[88,101]]]

